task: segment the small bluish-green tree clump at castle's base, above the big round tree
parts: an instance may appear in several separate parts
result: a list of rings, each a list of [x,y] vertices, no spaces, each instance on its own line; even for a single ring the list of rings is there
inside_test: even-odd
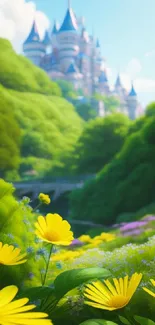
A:
[[[79,104],[76,106],[76,111],[85,121],[97,117],[96,110],[90,104]]]

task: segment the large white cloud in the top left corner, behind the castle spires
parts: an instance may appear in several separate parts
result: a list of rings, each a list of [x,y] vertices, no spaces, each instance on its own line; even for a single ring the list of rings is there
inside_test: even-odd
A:
[[[9,39],[17,52],[22,51],[22,44],[30,32],[34,18],[40,36],[49,28],[47,16],[36,11],[34,2],[25,0],[0,0],[0,37]]]

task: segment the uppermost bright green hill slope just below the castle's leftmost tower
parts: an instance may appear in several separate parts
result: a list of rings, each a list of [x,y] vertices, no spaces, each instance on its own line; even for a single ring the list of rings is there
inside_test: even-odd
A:
[[[17,55],[9,41],[0,38],[0,83],[10,89],[61,96],[58,85],[31,61]]]

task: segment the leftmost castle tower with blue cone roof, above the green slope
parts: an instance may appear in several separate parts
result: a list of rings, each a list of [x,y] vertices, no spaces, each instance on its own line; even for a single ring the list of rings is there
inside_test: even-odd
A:
[[[45,55],[45,45],[40,40],[36,22],[33,22],[29,36],[23,45],[24,55],[35,65],[39,66],[41,58]]]

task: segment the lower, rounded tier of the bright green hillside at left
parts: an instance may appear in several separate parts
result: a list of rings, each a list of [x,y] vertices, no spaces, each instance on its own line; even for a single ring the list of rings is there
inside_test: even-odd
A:
[[[63,98],[6,90],[3,87],[0,90],[0,107],[5,107],[6,110],[7,107],[11,108],[22,130],[22,156],[26,157],[26,160],[29,160],[29,157],[33,158],[30,164],[22,159],[22,166],[24,163],[25,167],[22,167],[21,170],[25,169],[26,171],[26,165],[28,168],[31,165],[31,169],[42,174],[47,170],[48,162],[50,162],[48,166],[50,168],[54,162],[60,160],[60,155],[63,156],[71,150],[81,133],[82,120],[74,111],[73,106]],[[10,115],[8,114],[8,116]],[[7,117],[5,118],[7,119]],[[15,141],[17,136],[15,137],[14,134],[18,135],[19,133],[18,126],[15,128],[14,134],[11,133],[12,129],[10,118],[10,142]],[[6,132],[7,130],[8,128]],[[13,145],[10,145],[10,150],[12,150],[11,148]],[[14,155],[16,151],[14,150]],[[45,166],[41,164],[43,160],[47,161]],[[11,159],[11,163],[13,164],[13,159]],[[7,165],[6,168],[8,169]]]

